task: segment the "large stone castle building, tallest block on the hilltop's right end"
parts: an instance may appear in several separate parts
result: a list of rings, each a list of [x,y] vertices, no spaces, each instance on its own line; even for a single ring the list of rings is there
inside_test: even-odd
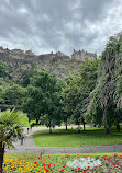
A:
[[[78,61],[85,61],[85,58],[93,59],[97,55],[93,53],[87,53],[84,49],[82,50],[75,50],[71,55],[71,59],[78,60]]]

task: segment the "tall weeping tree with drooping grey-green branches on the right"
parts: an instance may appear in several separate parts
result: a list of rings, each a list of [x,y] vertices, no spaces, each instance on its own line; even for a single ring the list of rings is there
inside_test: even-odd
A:
[[[99,66],[98,81],[95,90],[91,92],[88,114],[91,119],[104,125],[104,132],[109,134],[109,128],[117,119],[117,61],[120,51],[120,41],[117,36],[110,37],[106,50],[101,56]]]

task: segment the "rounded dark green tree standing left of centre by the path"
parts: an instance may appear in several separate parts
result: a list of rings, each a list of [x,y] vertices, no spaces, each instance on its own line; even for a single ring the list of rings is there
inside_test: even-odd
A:
[[[23,111],[29,114],[29,119],[45,124],[49,129],[59,124],[59,92],[60,85],[48,72],[40,72],[32,78],[23,102]]]

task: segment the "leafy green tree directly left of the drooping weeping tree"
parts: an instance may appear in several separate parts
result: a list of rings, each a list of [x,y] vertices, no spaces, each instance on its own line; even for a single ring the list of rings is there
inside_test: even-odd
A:
[[[62,93],[62,103],[66,114],[69,115],[77,125],[84,123],[84,129],[89,94],[93,90],[97,81],[98,62],[99,60],[96,58],[93,60],[86,59],[86,64],[81,65],[79,69],[79,76],[73,77]]]

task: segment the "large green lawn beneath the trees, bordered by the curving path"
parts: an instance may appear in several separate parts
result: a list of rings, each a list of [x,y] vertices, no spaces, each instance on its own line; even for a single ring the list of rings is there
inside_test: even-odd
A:
[[[122,143],[122,131],[111,129],[111,135],[104,135],[101,128],[87,128],[86,131],[78,134],[77,129],[53,129],[36,131],[33,135],[36,146],[40,147],[80,147],[92,145]]]

